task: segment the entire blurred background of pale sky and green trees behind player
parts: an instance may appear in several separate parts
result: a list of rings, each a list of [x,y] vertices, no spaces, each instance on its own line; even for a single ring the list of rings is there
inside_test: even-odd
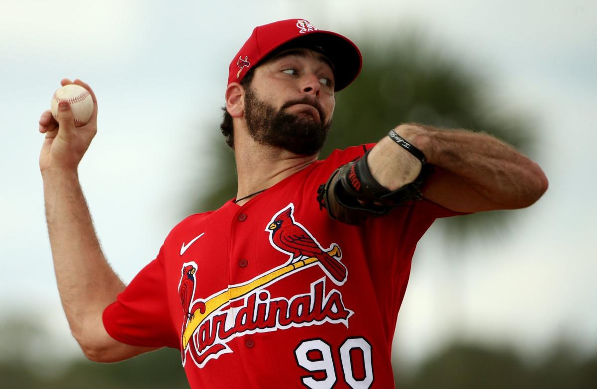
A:
[[[129,282],[186,215],[235,195],[219,132],[227,67],[253,27],[306,18],[352,39],[330,150],[401,122],[485,131],[550,180],[528,209],[441,220],[418,245],[393,344],[399,388],[597,383],[594,1],[0,2],[0,387],[185,388],[176,350],[100,365],[61,309],[37,121],[61,78],[99,100],[79,175]]]

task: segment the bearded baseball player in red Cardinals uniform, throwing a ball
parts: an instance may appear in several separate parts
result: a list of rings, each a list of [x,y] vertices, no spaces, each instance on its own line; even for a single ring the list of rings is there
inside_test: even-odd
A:
[[[181,221],[125,286],[101,252],[77,166],[96,108],[42,114],[56,278],[73,336],[99,362],[180,350],[192,388],[393,388],[390,350],[417,241],[436,218],[522,208],[539,166],[486,134],[398,125],[324,160],[353,42],[291,19],[256,27],[229,67],[221,125],[238,192]],[[62,84],[70,84],[64,79]],[[396,91],[399,93],[399,91]]]

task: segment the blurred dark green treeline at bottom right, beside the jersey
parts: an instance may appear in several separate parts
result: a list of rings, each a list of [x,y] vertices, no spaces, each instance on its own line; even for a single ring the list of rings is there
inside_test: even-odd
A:
[[[597,355],[581,356],[567,340],[542,359],[527,361],[507,347],[453,342],[427,357],[414,372],[395,372],[400,389],[589,389]]]

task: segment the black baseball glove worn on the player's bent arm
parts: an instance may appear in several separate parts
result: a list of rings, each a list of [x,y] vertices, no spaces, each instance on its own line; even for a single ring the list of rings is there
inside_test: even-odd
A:
[[[334,220],[358,225],[365,219],[386,215],[392,208],[423,197],[420,189],[431,171],[430,165],[423,165],[420,174],[409,184],[390,191],[371,174],[365,155],[331,174],[327,183],[319,186],[318,201]]]

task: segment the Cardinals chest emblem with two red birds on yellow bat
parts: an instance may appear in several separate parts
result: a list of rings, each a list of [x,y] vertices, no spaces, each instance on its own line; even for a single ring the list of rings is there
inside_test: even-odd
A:
[[[348,271],[340,262],[340,247],[336,243],[327,249],[322,247],[309,230],[294,220],[293,212],[290,203],[272,217],[265,229],[273,248],[290,256],[286,263],[272,264],[263,273],[227,284],[207,297],[195,297],[203,289],[199,282],[204,276],[198,275],[201,268],[193,261],[182,264],[179,296],[184,313],[180,335],[183,366],[190,356],[201,369],[210,360],[233,353],[234,343],[230,342],[247,334],[324,323],[349,327],[354,311],[344,305],[342,292],[327,282],[328,278],[336,285],[346,282]],[[318,266],[324,274],[316,274],[308,291],[303,285],[294,293],[285,291],[280,296],[267,289],[300,271],[317,270]]]

